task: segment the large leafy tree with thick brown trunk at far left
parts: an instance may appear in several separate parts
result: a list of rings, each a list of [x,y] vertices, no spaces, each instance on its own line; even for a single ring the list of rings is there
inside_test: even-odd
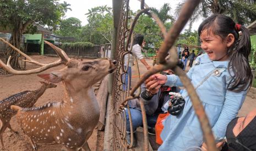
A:
[[[39,25],[55,25],[64,13],[57,0],[1,0],[0,1],[0,26],[12,28],[10,43],[20,49],[21,36],[26,27],[33,22]],[[20,68],[15,51],[9,49],[12,55],[10,65]]]

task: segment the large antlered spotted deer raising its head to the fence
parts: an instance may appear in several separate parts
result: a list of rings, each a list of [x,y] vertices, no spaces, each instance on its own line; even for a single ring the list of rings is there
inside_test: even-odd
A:
[[[45,43],[56,51],[60,57],[58,61],[41,65],[42,67],[30,71],[16,71],[9,65],[9,61],[5,65],[0,60],[0,64],[14,74],[40,73],[53,66],[64,64],[66,67],[61,70],[39,74],[39,77],[51,83],[63,83],[65,91],[63,100],[47,103],[41,107],[11,106],[11,108],[18,111],[18,123],[30,137],[35,150],[36,143],[62,144],[68,150],[79,148],[90,150],[87,141],[100,117],[99,105],[91,86],[108,73],[112,73],[116,68],[116,61],[70,59],[62,49],[49,42],[45,41]],[[41,64],[35,60],[27,61],[36,65]]]

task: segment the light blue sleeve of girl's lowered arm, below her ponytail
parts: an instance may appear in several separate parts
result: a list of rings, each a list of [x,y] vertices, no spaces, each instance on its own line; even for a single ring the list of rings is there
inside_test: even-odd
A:
[[[227,90],[224,106],[219,119],[213,126],[216,141],[225,137],[227,125],[233,118],[236,118],[238,111],[242,107],[244,99],[246,98],[246,94],[247,91],[232,92]]]

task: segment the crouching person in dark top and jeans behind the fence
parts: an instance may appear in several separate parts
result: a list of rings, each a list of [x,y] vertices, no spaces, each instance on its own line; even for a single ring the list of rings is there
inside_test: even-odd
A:
[[[183,62],[179,61],[178,66],[184,67]],[[173,74],[171,70],[161,72],[161,74],[169,75]],[[141,84],[140,99],[144,101],[146,110],[146,119],[148,123],[148,132],[151,135],[155,135],[155,125],[159,114],[164,113],[162,106],[170,99],[169,92],[179,92],[179,88],[175,86],[161,86],[159,92],[155,93],[146,89],[145,84]],[[143,125],[142,114],[140,109],[140,103],[138,99],[130,100],[128,102],[130,108],[130,114],[132,115],[133,126],[133,147],[137,146],[137,133],[136,129]],[[130,123],[128,116],[128,109],[126,109],[126,131],[127,131],[127,143],[130,144]]]

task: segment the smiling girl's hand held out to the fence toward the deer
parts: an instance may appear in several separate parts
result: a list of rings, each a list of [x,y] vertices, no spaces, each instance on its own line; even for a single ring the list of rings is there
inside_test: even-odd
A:
[[[156,94],[159,91],[159,88],[161,88],[161,86],[166,82],[166,75],[154,74],[151,75],[148,79],[146,79],[145,85],[146,89],[148,89],[152,94]]]

